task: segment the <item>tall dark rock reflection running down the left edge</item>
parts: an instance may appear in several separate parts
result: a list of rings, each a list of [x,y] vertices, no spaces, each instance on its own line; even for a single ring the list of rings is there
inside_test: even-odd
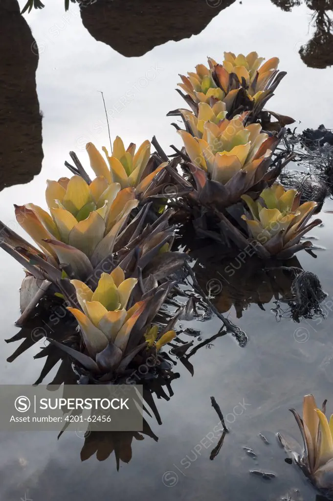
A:
[[[0,2],[0,190],[27,183],[42,167],[36,92],[37,44],[17,0]]]

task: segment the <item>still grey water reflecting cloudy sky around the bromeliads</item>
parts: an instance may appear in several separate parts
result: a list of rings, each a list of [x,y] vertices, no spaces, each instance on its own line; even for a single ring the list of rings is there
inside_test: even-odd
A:
[[[25,0],[20,1],[21,8],[24,4]],[[220,10],[221,2],[216,4]],[[327,89],[333,81],[333,69],[309,68],[298,54],[300,46],[316,30],[313,22],[310,24],[313,12],[305,3],[291,12],[282,11],[269,0],[256,0],[255,5],[250,0],[229,4],[219,13],[216,11],[216,15],[217,7],[209,7],[214,14],[200,34],[169,41],[132,58],[96,41],[83,26],[77,5],[71,4],[65,14],[62,0],[49,0],[42,11],[26,14],[40,55],[36,81],[43,112],[44,160],[41,173],[33,181],[7,187],[0,193],[2,220],[23,234],[14,221],[13,202],[34,201],[44,206],[45,181],[67,175],[63,164],[69,160],[70,150],[87,165],[87,141],[93,141],[99,148],[109,144],[98,91],[104,92],[112,115],[112,137],[118,134],[125,143],[140,144],[155,134],[167,152],[170,144],[179,146],[179,138],[165,116],[170,109],[182,106],[180,96],[174,91],[178,73],[191,71],[199,62],[205,63],[207,55],[219,60],[224,50],[235,53],[256,50],[266,58],[278,56],[280,69],[288,75],[270,101],[269,109],[294,117],[299,130],[320,123],[332,127],[333,95]],[[188,23],[188,19],[183,22]],[[18,26],[18,33],[12,36],[19,36],[19,30],[22,34]],[[131,46],[127,39],[134,42],[125,26],[122,36],[124,51],[128,53]],[[27,43],[36,52],[34,42]],[[141,47],[140,39],[137,43]],[[27,64],[27,72],[31,71],[29,68]],[[23,79],[23,88],[24,85]],[[132,98],[124,101],[128,91],[132,92]],[[38,113],[38,129],[37,122]],[[10,160],[2,156],[4,178]],[[39,171],[37,157],[35,164],[30,159],[29,167],[31,176]],[[10,174],[15,184],[20,179],[13,175],[13,168],[11,165]],[[326,209],[333,209],[329,199],[323,207]],[[33,501],[59,498],[69,501],[112,496],[141,500],[158,496],[161,501],[175,497],[267,501],[292,496],[314,500],[315,490],[294,465],[284,461],[285,453],[274,434],[287,430],[300,439],[288,408],[300,411],[306,393],[314,393],[317,402],[327,398],[327,409],[333,411],[332,215],[322,212],[320,217],[324,226],[311,231],[311,235],[317,236],[319,240],[314,243],[326,250],[318,250],[316,260],[305,252],[297,258],[304,270],[318,275],[328,295],[324,303],[325,320],[300,324],[289,319],[277,322],[270,311],[274,307],[272,301],[264,305],[265,311],[251,304],[239,319],[231,307],[229,318],[248,334],[247,346],[240,348],[230,335],[217,338],[212,346],[200,349],[190,359],[193,377],[177,362],[175,370],[180,378],[172,382],[174,395],[169,401],[156,402],[163,424],[159,426],[156,420],[149,419],[158,442],[148,436],[142,441],[133,439],[132,458],[128,464],[121,461],[117,472],[114,452],[105,461],[101,461],[104,459],[101,453],[100,460],[93,454],[82,462],[80,451],[84,440],[75,433],[67,433],[59,441],[56,433],[1,434],[0,499],[15,501],[26,496]],[[19,316],[19,287],[24,275],[21,266],[4,252],[1,258],[3,284],[10,284],[0,291],[2,331],[8,339],[19,330],[14,322]],[[210,269],[207,282],[215,278],[216,269]],[[187,327],[186,322],[182,324]],[[216,334],[221,323],[214,317],[205,323],[196,322],[194,327],[201,329],[204,340]],[[187,336],[182,339],[187,340]],[[33,360],[33,355],[43,343],[37,343],[8,363],[7,358],[18,346],[19,343],[3,343],[0,354],[3,383],[33,383],[42,368],[42,361]],[[52,380],[54,373],[46,382]],[[210,405],[211,395],[215,396],[230,428],[214,460],[209,455],[220,431],[216,430],[219,419]],[[263,433],[270,443],[265,444],[258,433]],[[104,437],[104,447],[106,440]],[[245,446],[253,448],[256,459],[246,453]],[[129,460],[128,446],[124,446],[122,457]],[[251,469],[274,472],[276,478],[262,479],[251,475]],[[293,489],[299,489],[299,493]]]

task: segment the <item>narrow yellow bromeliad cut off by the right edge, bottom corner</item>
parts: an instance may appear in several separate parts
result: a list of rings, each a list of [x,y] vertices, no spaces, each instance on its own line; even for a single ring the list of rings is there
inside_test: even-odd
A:
[[[295,463],[311,482],[325,495],[333,495],[333,415],[329,422],[325,416],[326,400],[318,409],[313,395],[303,398],[303,416],[289,409],[298,424],[303,451],[295,451],[288,439],[278,434],[278,437],[288,453],[291,453]]]

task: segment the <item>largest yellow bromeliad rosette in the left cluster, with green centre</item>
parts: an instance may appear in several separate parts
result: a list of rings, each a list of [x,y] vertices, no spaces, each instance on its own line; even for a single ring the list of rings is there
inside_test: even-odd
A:
[[[29,203],[15,206],[16,218],[46,256],[71,266],[74,273],[74,249],[80,251],[82,265],[90,261],[96,266],[138,205],[133,189],[109,185],[103,176],[91,184],[78,175],[48,181],[46,201],[51,215]]]

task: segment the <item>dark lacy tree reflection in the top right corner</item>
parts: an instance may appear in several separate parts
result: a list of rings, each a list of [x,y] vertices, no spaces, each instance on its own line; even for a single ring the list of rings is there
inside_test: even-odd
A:
[[[305,5],[313,11],[311,23],[315,32],[311,40],[299,50],[299,55],[306,66],[324,69],[333,65],[333,22],[326,11],[333,10],[332,0],[271,0],[271,2],[289,12],[293,7]]]

